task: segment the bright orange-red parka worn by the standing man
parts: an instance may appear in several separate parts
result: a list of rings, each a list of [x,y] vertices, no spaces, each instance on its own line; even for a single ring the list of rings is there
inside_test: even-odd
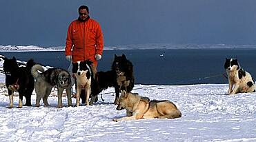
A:
[[[65,54],[72,55],[72,62],[90,59],[97,67],[95,54],[102,55],[103,33],[99,23],[93,19],[75,20],[68,27]]]

